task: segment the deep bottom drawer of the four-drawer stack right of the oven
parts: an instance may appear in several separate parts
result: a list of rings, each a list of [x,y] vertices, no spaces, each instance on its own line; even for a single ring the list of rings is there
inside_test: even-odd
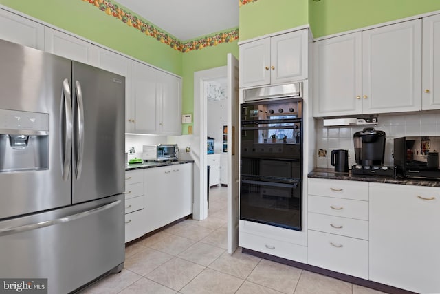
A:
[[[369,242],[309,231],[309,264],[369,280]]]

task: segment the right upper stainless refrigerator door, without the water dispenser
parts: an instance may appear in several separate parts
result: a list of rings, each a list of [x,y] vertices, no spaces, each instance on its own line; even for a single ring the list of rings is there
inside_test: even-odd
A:
[[[73,62],[72,202],[124,191],[125,78]]]

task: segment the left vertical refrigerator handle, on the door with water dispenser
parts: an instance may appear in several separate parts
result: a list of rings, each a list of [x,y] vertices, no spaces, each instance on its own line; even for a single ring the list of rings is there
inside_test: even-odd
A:
[[[64,121],[63,121],[64,119]],[[63,91],[61,94],[61,125],[64,125],[64,129],[61,129],[62,142],[61,142],[61,171],[63,180],[69,178],[70,165],[72,163],[72,96],[70,92],[69,80],[67,78],[63,81]],[[63,158],[64,156],[64,158]]]

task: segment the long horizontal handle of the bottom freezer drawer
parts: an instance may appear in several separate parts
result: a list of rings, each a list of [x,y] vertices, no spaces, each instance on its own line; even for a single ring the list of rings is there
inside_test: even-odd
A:
[[[44,227],[50,227],[54,224],[61,224],[63,222],[72,222],[72,220],[78,220],[79,218],[85,218],[86,216],[91,216],[95,213],[100,213],[101,211],[111,209],[115,206],[118,206],[121,203],[121,200],[117,200],[111,202],[109,204],[105,204],[102,207],[97,207],[94,209],[90,209],[87,211],[82,211],[80,213],[72,214],[72,216],[64,216],[63,218],[57,218],[56,220],[45,220],[43,222],[37,222],[36,224],[25,224],[19,227],[5,228],[0,230],[0,237],[4,235],[12,235],[16,233],[23,233],[25,231],[32,231],[36,229],[41,229]]]

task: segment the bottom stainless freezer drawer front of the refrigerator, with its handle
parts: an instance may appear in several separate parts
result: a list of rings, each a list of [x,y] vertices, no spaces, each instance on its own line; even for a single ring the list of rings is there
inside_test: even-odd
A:
[[[122,269],[124,196],[5,220],[0,242],[0,277],[47,278],[47,293],[70,293]]]

